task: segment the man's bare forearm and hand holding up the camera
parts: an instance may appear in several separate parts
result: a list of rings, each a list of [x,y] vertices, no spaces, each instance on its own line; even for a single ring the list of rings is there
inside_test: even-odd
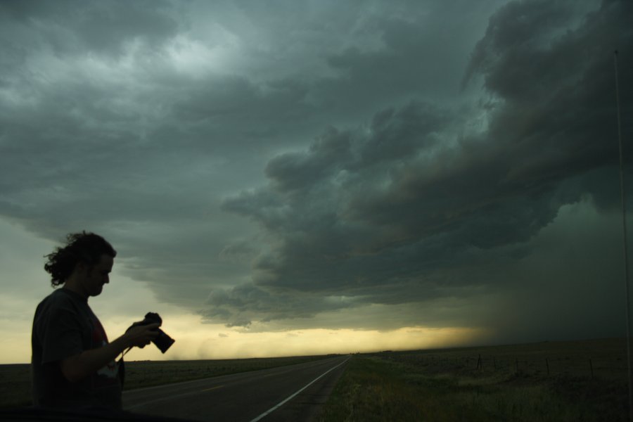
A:
[[[130,328],[112,343],[62,359],[59,363],[61,372],[71,383],[81,381],[112,362],[128,347],[148,345],[158,335],[159,326],[160,324],[148,324]]]

